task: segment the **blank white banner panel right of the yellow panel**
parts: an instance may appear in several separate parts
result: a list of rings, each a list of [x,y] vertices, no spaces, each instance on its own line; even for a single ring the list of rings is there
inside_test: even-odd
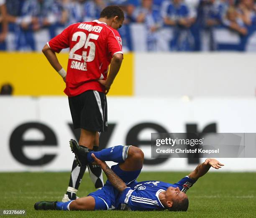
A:
[[[256,53],[135,53],[136,96],[254,97]]]

